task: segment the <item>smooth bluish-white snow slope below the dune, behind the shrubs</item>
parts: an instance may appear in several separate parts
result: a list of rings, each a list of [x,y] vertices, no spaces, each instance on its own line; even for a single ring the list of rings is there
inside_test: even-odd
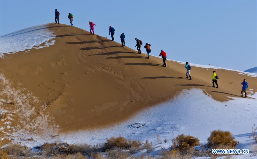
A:
[[[131,140],[148,139],[156,144],[157,151],[161,147],[168,148],[172,144],[171,139],[182,133],[198,137],[201,143],[205,144],[212,130],[221,129],[234,134],[239,141],[238,148],[247,148],[251,151],[253,139],[249,136],[252,124],[257,124],[256,101],[251,98],[234,98],[227,102],[219,102],[204,94],[203,90],[192,88],[184,90],[170,101],[149,107],[129,120],[109,128],[79,130],[59,134],[55,138],[50,137],[55,134],[34,136],[34,141],[22,143],[30,147],[55,140],[70,144],[96,144],[103,143],[112,136],[123,136]],[[160,135],[163,143],[165,138],[168,142],[158,145],[156,134]]]

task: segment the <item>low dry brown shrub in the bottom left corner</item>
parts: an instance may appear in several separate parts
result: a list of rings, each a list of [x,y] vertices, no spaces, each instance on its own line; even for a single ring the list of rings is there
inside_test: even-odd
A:
[[[27,146],[22,146],[21,144],[9,144],[5,147],[5,150],[8,155],[13,155],[17,157],[30,157],[34,155],[30,148],[28,148]]]

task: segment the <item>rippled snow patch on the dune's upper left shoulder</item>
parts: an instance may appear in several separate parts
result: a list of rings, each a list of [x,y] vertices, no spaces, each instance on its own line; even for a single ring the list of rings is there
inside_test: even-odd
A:
[[[4,53],[17,53],[26,49],[40,49],[53,45],[55,40],[53,31],[50,31],[46,25],[37,25],[0,37],[0,57]],[[43,44],[43,46],[39,46]]]

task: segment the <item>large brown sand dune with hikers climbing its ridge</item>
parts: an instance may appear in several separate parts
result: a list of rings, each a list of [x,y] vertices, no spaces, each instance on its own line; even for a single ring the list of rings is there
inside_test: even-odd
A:
[[[22,103],[30,105],[28,116],[24,115],[28,110],[23,111],[24,116],[10,113],[11,118],[19,119],[9,124],[11,132],[26,124],[35,125],[28,128],[31,132],[45,124],[50,134],[56,134],[57,129],[68,132],[108,126],[172,99],[185,88],[200,88],[223,102],[240,96],[241,82],[246,79],[249,94],[257,92],[256,77],[218,69],[219,88],[212,88],[212,69],[192,67],[192,80],[188,80],[181,63],[167,61],[167,67],[162,67],[158,57],[147,59],[145,54],[83,29],[53,23],[47,27],[56,35],[54,45],[1,58],[1,74],[10,81],[2,84],[1,92],[11,87],[11,92],[22,90],[19,95],[31,97],[21,96],[18,102],[15,94],[1,95],[2,108],[10,112]],[[172,53],[167,54],[172,59]],[[33,124],[46,115],[41,125]]]

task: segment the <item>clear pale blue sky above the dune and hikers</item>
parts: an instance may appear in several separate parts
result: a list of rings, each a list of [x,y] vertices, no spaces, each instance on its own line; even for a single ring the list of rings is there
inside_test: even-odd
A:
[[[151,55],[160,50],[167,58],[244,71],[257,66],[256,1],[0,1],[0,34],[54,22],[109,36],[125,33],[126,46],[136,49],[135,38],[150,43]],[[146,52],[144,48],[142,51]]]

